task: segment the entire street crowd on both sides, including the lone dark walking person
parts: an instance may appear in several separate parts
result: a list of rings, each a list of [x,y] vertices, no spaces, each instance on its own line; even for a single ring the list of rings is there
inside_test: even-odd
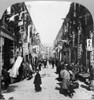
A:
[[[41,59],[39,60],[37,57],[35,57],[35,61],[32,62],[31,59],[28,61],[22,61],[18,74],[16,78],[12,78],[9,75],[9,72],[6,69],[2,69],[2,90],[6,90],[9,86],[9,84],[12,84],[14,82],[20,82],[27,78],[27,80],[32,79],[33,74],[35,74],[34,79],[34,86],[35,91],[39,92],[42,90],[41,84],[41,75],[39,74],[39,71],[41,70],[41,67],[47,68],[47,62],[52,65],[52,69],[56,67],[56,74],[58,74],[58,81],[61,82],[60,86],[60,93],[64,94],[65,96],[72,97],[75,93],[74,89],[79,88],[79,73],[87,72],[86,68],[80,65],[79,63],[65,63],[62,61],[59,61],[58,59]],[[11,65],[13,66],[13,64]],[[90,89],[91,83],[93,84],[94,81],[94,68],[90,66],[88,69],[90,73],[90,77],[88,79],[88,87]],[[94,85],[92,85],[94,87]]]

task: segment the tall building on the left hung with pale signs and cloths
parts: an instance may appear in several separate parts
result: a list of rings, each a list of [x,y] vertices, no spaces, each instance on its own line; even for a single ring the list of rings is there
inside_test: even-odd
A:
[[[24,2],[6,9],[0,28],[0,43],[2,43],[0,62],[2,66],[9,69],[18,54],[28,60],[35,26]]]

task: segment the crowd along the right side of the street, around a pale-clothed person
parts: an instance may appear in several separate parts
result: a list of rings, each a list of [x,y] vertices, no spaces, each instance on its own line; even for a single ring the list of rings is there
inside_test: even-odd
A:
[[[78,80],[82,80],[88,85],[88,90],[94,90],[94,67],[89,66],[88,69],[79,63],[66,63],[59,60],[52,61],[52,68],[56,65],[56,73],[58,74],[58,81],[61,81],[60,93],[65,96],[73,97],[75,89],[79,89]],[[89,73],[88,80],[80,77],[80,73]],[[84,75],[84,74],[83,74]],[[86,78],[86,77],[84,77]]]

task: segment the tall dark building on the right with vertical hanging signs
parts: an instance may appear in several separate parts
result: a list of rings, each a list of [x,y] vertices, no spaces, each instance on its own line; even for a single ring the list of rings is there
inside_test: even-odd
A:
[[[71,3],[62,30],[62,55],[65,55],[62,56],[62,60],[66,59],[68,63],[78,62],[88,67],[90,51],[87,50],[87,40],[93,38],[91,13],[84,6]]]

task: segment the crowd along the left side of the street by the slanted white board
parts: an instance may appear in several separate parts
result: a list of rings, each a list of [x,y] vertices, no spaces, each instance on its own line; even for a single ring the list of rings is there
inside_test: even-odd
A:
[[[23,81],[24,79],[27,79],[27,80],[32,79],[33,74],[39,72],[41,70],[42,65],[44,65],[44,68],[46,68],[46,65],[47,65],[47,59],[39,60],[37,57],[34,57],[34,61],[32,61],[31,56],[29,57],[29,59],[26,59],[26,60],[23,59],[20,66],[18,68],[13,69],[15,62],[9,66],[10,69],[6,69],[4,66],[2,67],[2,76],[1,76],[2,90],[7,90],[8,86],[12,83],[20,82],[20,81]],[[12,72],[12,74],[11,74],[11,69],[13,69],[12,71],[14,71]]]

